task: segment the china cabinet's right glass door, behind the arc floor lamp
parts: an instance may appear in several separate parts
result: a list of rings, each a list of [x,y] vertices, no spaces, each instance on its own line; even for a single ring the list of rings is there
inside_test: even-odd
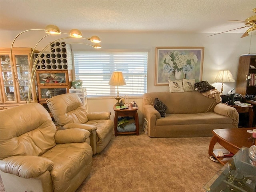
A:
[[[29,90],[29,68],[28,68],[28,55],[15,55],[17,79],[17,93],[19,102],[26,102],[28,100]],[[32,92],[30,94],[31,101],[33,100]]]

